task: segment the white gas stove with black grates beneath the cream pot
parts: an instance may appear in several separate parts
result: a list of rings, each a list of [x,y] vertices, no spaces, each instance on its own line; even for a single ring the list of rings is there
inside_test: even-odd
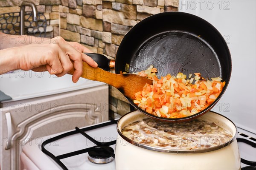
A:
[[[116,122],[112,120],[45,136],[23,147],[20,169],[115,169]],[[256,134],[238,128],[242,170],[256,169]],[[246,163],[246,164],[245,164]]]

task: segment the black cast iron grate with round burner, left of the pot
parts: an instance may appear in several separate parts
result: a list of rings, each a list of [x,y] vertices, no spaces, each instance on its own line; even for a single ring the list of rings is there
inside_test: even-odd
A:
[[[113,144],[116,144],[116,140],[111,141],[111,142],[98,142],[95,139],[93,139],[91,136],[89,136],[87,133],[85,133],[84,131],[87,130],[93,130],[96,128],[100,128],[100,127],[104,127],[104,126],[108,126],[108,125],[112,125],[112,124],[116,124],[116,120],[111,120],[110,122],[105,122],[99,125],[94,125],[94,126],[90,126],[90,127],[85,127],[82,129],[79,129],[78,127],[76,127],[76,130],[67,132],[67,133],[63,133],[61,135],[55,136],[51,139],[47,139],[46,141],[44,141],[42,143],[42,152],[44,152],[45,154],[47,154],[48,156],[50,156],[58,165],[61,166],[61,168],[63,168],[64,170],[68,170],[67,167],[61,162],[61,159],[65,159],[71,156],[76,156],[82,153],[88,153],[88,159],[90,161],[92,161],[93,163],[108,163],[113,161],[113,159],[115,158],[115,154],[114,154],[114,150],[109,147]],[[89,139],[91,142],[93,142],[94,144],[96,144],[96,146],[93,147],[88,147],[85,149],[81,149],[81,150],[76,150],[74,152],[70,152],[70,153],[65,153],[62,155],[58,155],[55,156],[52,153],[50,153],[48,150],[45,149],[45,145],[54,142],[56,140],[59,140],[61,138],[73,135],[73,134],[77,134],[77,133],[81,133],[84,137],[86,137],[87,139]],[[111,149],[110,149],[111,148]],[[102,153],[101,155],[99,153]]]

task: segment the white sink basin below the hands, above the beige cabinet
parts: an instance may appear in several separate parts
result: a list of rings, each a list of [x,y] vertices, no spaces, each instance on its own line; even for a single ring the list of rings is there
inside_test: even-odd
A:
[[[73,83],[71,77],[72,75],[69,74],[57,77],[48,72],[16,70],[0,75],[0,91],[12,97],[9,101],[17,101],[105,84],[84,78]]]

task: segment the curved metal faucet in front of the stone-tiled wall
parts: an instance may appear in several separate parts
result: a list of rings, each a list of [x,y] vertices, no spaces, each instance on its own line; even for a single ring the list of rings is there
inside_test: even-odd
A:
[[[37,22],[37,8],[35,3],[32,2],[22,2],[20,5],[20,35],[25,34],[25,6],[31,6],[33,11],[33,21]]]

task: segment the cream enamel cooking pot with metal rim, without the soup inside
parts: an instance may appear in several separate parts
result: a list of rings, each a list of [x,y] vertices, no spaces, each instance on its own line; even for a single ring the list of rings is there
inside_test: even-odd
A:
[[[198,119],[214,122],[232,134],[232,138],[215,147],[198,150],[172,150],[139,144],[125,137],[121,130],[131,122],[147,116],[134,111],[122,116],[117,123],[116,169],[160,170],[239,170],[241,162],[236,141],[236,125],[226,117],[209,111]],[[180,136],[183,137],[183,136]]]

